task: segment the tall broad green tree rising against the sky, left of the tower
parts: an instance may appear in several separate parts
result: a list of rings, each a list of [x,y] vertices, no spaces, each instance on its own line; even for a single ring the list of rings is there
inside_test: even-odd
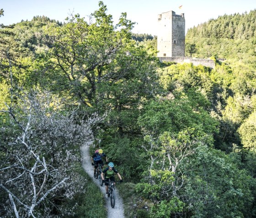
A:
[[[99,7],[90,24],[75,15],[48,30],[48,78],[54,81],[49,88],[87,111],[112,109],[107,125],[113,124],[118,134],[138,132],[133,118],[139,116],[141,100],[158,92],[157,62],[132,39],[134,23],[126,13],[113,25],[106,5],[100,1]]]

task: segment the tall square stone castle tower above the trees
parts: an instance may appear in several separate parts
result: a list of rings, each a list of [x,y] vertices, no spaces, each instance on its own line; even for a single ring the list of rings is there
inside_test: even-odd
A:
[[[174,11],[158,15],[158,57],[185,56],[185,17]]]

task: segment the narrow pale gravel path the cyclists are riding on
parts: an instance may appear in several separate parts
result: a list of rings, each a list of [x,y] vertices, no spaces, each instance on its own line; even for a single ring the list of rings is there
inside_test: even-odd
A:
[[[92,142],[87,143],[86,145],[81,147],[82,154],[82,164],[85,172],[93,179],[93,181],[97,184],[97,186],[101,189],[101,192],[106,194],[105,184],[101,187],[98,180],[93,177],[93,166],[91,166],[91,156],[89,153],[89,146]],[[106,199],[106,198],[105,198]],[[107,208],[107,218],[124,218],[124,210],[123,210],[123,199],[119,196],[118,190],[116,189],[116,204],[115,207],[112,208],[110,204],[110,199],[106,199],[106,208]]]

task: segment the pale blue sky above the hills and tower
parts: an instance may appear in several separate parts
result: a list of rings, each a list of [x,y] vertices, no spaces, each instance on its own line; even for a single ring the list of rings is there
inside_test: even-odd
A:
[[[99,0],[0,0],[4,16],[0,23],[9,25],[21,20],[31,20],[35,15],[64,21],[72,12],[82,17],[98,9]],[[248,13],[256,9],[256,0],[103,0],[108,14],[117,22],[122,12],[128,19],[137,22],[134,33],[156,35],[157,15],[173,10],[185,14],[186,30],[219,15]],[[182,8],[179,9],[179,6]]]

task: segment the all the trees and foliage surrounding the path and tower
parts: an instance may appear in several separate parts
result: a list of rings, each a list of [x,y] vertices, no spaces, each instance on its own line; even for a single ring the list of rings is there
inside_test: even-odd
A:
[[[89,21],[1,26],[0,216],[105,216],[80,166],[96,139],[127,217],[256,217],[255,20],[188,30],[187,54],[214,69],[159,63],[156,37],[133,34],[126,13],[114,25],[101,1]]]

